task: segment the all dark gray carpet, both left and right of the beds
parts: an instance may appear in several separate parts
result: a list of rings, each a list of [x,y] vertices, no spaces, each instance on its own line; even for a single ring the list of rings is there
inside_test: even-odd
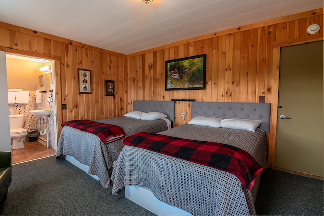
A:
[[[154,215],[111,195],[98,181],[64,159],[48,157],[14,165],[1,215]],[[324,215],[323,181],[265,170],[256,201],[258,215]]]

